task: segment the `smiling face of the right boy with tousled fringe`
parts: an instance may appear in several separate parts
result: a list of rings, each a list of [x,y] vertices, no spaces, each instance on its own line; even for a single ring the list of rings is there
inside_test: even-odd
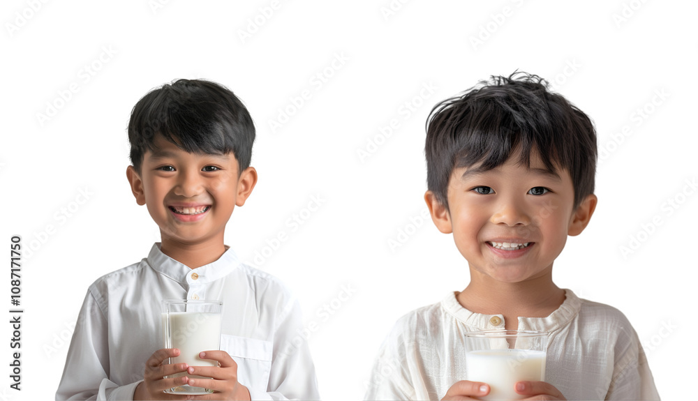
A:
[[[489,171],[477,165],[454,169],[447,192],[450,211],[433,193],[425,195],[438,229],[453,233],[468,260],[471,279],[523,282],[550,274],[567,235],[581,233],[593,213],[595,195],[573,210],[567,170],[550,174],[537,154],[530,169],[518,160],[514,155]]]

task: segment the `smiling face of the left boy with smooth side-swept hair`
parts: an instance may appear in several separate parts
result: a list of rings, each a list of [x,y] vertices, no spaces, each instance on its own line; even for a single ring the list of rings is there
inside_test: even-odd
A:
[[[253,167],[238,174],[233,153],[187,153],[158,135],[140,174],[127,169],[133,195],[160,227],[163,246],[223,245],[225,224],[257,181]]]

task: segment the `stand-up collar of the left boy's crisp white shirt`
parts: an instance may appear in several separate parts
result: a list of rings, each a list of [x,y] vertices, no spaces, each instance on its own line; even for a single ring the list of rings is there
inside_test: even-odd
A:
[[[216,261],[198,268],[189,268],[181,262],[177,262],[160,250],[161,243],[156,242],[148,254],[148,264],[155,271],[179,282],[181,285],[205,285],[228,275],[237,268],[241,262],[230,247],[225,246],[223,255]],[[195,273],[195,274],[193,274]]]

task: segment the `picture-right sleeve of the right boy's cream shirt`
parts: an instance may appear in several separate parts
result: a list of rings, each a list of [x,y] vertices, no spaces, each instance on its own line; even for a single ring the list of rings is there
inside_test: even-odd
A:
[[[606,400],[659,400],[644,350],[634,330],[614,349],[614,372]]]

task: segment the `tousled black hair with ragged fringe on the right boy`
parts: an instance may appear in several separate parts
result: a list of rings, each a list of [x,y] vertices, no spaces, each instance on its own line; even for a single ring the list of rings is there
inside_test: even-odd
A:
[[[438,103],[426,119],[427,186],[448,208],[454,169],[503,165],[515,151],[530,167],[537,151],[545,167],[567,169],[574,185],[574,207],[594,192],[596,130],[589,117],[537,75],[514,71]]]

